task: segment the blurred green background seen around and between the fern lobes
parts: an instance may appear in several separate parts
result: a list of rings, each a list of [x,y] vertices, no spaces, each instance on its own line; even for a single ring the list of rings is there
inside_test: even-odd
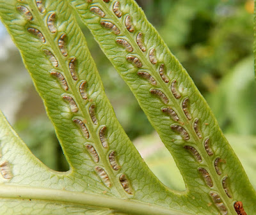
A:
[[[236,142],[234,148],[237,149],[242,145],[248,147],[244,155],[242,153],[239,156],[246,158],[246,155],[250,157],[248,153],[256,153],[253,1],[137,2],[205,96],[221,129],[232,140],[230,144]],[[164,152],[163,144],[153,133],[152,126],[127,85],[102,54],[88,29],[82,24],[81,27],[98,65],[106,94],[127,135],[138,145],[143,158],[148,164],[151,163],[150,168],[155,168],[155,174],[161,177],[164,184],[183,189],[184,185],[175,185],[175,182],[168,179],[168,175],[164,175],[164,168],[170,170],[172,158]],[[33,89],[19,52],[3,26],[0,26],[0,63],[1,110],[39,159],[54,170],[68,170],[42,101]],[[159,150],[157,153],[160,154],[157,156],[155,153],[153,156],[150,150],[145,151],[152,148],[153,151]],[[241,153],[241,150],[238,151]],[[159,157],[164,161],[160,162]],[[256,156],[250,159],[248,175],[253,177]],[[164,164],[165,167],[159,168],[156,163],[160,163],[160,166]],[[172,167],[179,175],[177,169],[174,169],[175,166]],[[244,167],[247,168],[246,164]]]

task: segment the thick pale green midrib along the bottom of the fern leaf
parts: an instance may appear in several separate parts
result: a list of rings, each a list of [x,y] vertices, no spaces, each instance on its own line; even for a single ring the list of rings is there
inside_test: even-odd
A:
[[[192,215],[157,205],[145,204],[134,200],[124,200],[103,195],[93,195],[61,189],[36,188],[31,186],[0,185],[1,198],[15,200],[42,200],[47,203],[74,205],[77,207],[97,207],[99,209],[113,209],[127,214],[148,215]]]

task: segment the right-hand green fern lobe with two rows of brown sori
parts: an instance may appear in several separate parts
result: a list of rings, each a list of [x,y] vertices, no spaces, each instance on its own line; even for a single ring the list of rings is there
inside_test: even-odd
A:
[[[221,214],[236,214],[234,202],[241,200],[253,213],[255,191],[241,163],[188,73],[141,8],[131,0],[70,3],[172,153],[188,198],[201,207],[215,205]]]

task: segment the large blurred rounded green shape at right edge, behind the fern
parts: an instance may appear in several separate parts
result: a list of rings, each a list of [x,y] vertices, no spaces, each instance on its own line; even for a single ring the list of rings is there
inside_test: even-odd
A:
[[[218,89],[207,101],[225,133],[256,135],[256,85],[253,57],[237,63],[221,79]]]

